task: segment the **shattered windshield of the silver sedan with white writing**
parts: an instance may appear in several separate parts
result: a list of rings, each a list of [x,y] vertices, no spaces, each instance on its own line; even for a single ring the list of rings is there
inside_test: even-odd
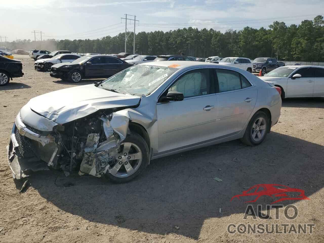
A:
[[[99,87],[125,94],[148,95],[176,71],[170,67],[135,65],[106,79]]]

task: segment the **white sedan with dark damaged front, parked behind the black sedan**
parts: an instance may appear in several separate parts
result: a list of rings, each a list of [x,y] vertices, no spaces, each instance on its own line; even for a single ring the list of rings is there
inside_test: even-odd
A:
[[[34,67],[37,71],[49,71],[51,66],[58,63],[71,63],[74,60],[80,58],[80,55],[76,54],[60,54],[52,58],[45,58],[35,61]]]

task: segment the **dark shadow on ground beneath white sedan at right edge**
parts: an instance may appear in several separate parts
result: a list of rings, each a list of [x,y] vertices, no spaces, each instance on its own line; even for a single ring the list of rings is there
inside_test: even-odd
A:
[[[324,108],[324,98],[286,98],[282,101],[282,107]]]

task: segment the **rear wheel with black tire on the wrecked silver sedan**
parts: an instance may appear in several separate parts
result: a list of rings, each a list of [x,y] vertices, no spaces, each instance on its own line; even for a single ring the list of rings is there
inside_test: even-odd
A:
[[[259,121],[261,123],[259,124]],[[259,125],[259,126],[258,126]],[[253,126],[253,129],[252,129]],[[264,129],[260,129],[260,126]],[[249,146],[256,146],[263,142],[265,137],[267,136],[268,130],[270,126],[270,121],[266,113],[263,111],[257,111],[249,121],[249,124],[245,130],[244,136],[241,138],[241,142],[249,145]],[[257,138],[257,133],[254,131],[260,131],[261,137]],[[255,134],[255,135],[254,135]],[[253,138],[254,136],[254,138]]]

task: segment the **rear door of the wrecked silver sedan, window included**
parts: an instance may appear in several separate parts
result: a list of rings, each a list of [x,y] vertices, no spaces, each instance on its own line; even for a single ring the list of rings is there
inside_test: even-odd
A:
[[[258,89],[240,73],[217,68],[217,137],[240,132],[248,121],[258,97]]]

